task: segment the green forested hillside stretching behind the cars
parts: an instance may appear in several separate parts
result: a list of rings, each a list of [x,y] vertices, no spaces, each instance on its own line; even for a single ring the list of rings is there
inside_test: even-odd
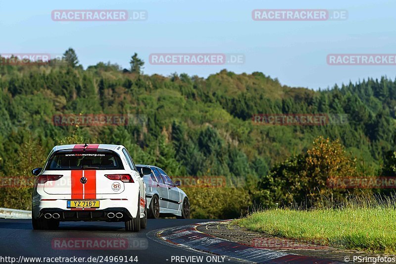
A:
[[[330,85],[330,84],[329,84]],[[379,175],[396,143],[396,81],[386,77],[313,91],[261,72],[208,78],[145,75],[99,62],[0,65],[0,175],[29,175],[56,144],[122,144],[136,163],[170,175],[257,182],[318,136],[340,140],[359,173]],[[139,114],[143,124],[54,126],[55,114]],[[344,125],[270,126],[257,113],[345,113]],[[2,205],[0,205],[2,206]],[[22,208],[23,209],[23,208]]]

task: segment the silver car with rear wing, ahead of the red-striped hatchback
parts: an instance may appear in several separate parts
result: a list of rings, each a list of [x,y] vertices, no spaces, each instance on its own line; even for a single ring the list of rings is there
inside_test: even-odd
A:
[[[151,169],[151,174],[145,175],[146,204],[148,217],[176,216],[176,218],[190,218],[190,202],[185,192],[178,188],[180,181],[172,182],[161,168],[152,165],[136,165],[138,171],[143,167]]]

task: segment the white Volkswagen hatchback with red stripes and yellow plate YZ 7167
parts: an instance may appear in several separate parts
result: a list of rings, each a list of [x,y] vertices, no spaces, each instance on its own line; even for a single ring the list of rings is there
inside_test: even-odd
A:
[[[33,229],[55,229],[59,221],[123,221],[127,231],[146,228],[149,168],[140,171],[120,145],[55,146],[44,168],[35,168]]]

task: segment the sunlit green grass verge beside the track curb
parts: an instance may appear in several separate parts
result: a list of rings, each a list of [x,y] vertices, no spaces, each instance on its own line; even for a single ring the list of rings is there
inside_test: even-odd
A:
[[[234,220],[269,236],[310,241],[338,248],[396,254],[395,204],[339,209],[270,209]]]

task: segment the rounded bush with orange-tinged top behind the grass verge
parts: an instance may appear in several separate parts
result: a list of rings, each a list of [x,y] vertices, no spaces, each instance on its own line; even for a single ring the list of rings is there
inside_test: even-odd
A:
[[[259,184],[263,189],[262,202],[317,204],[322,197],[341,194],[328,184],[339,177],[358,176],[356,160],[346,154],[338,140],[318,137],[312,148],[276,164]]]

